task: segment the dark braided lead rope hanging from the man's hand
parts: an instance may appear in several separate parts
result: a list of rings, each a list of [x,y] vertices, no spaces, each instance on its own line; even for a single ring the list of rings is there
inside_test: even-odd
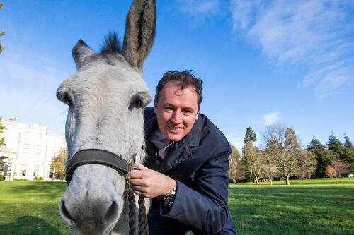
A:
[[[128,165],[128,172],[130,172],[135,167],[135,156],[133,156]],[[132,186],[130,185],[130,177],[128,174],[125,174],[125,192],[124,198],[128,202],[129,206],[129,235],[136,235],[136,206],[135,206],[135,196],[132,191]],[[145,200],[144,197],[139,196],[139,235],[149,235],[149,227],[147,224],[147,213],[145,209]]]

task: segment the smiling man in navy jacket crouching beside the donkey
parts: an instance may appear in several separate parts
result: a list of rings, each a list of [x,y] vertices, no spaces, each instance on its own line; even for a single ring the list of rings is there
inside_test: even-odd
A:
[[[152,199],[152,235],[236,234],[227,205],[229,143],[203,114],[202,81],[169,71],[145,109],[147,158],[131,173],[137,195]]]

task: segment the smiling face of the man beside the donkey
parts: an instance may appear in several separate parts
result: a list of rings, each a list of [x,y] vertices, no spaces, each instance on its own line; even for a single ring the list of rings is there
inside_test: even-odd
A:
[[[198,96],[193,88],[181,90],[176,82],[162,88],[154,108],[160,131],[168,140],[179,141],[192,129],[198,119]]]

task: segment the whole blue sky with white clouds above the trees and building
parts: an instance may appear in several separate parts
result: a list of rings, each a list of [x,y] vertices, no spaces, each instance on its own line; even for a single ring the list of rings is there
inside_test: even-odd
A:
[[[57,86],[76,68],[72,47],[96,51],[123,37],[131,1],[2,1],[0,116],[64,133]],[[168,70],[204,81],[202,113],[241,150],[285,123],[307,145],[329,132],[354,140],[354,1],[157,0],[156,39],[144,66],[150,92]]]

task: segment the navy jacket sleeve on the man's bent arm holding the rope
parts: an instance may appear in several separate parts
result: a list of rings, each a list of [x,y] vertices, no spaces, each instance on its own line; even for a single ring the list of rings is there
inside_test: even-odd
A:
[[[198,191],[177,181],[176,198],[171,210],[161,215],[196,227],[207,234],[217,234],[227,221],[229,144],[223,143],[198,170]],[[197,175],[196,175],[197,176]]]

